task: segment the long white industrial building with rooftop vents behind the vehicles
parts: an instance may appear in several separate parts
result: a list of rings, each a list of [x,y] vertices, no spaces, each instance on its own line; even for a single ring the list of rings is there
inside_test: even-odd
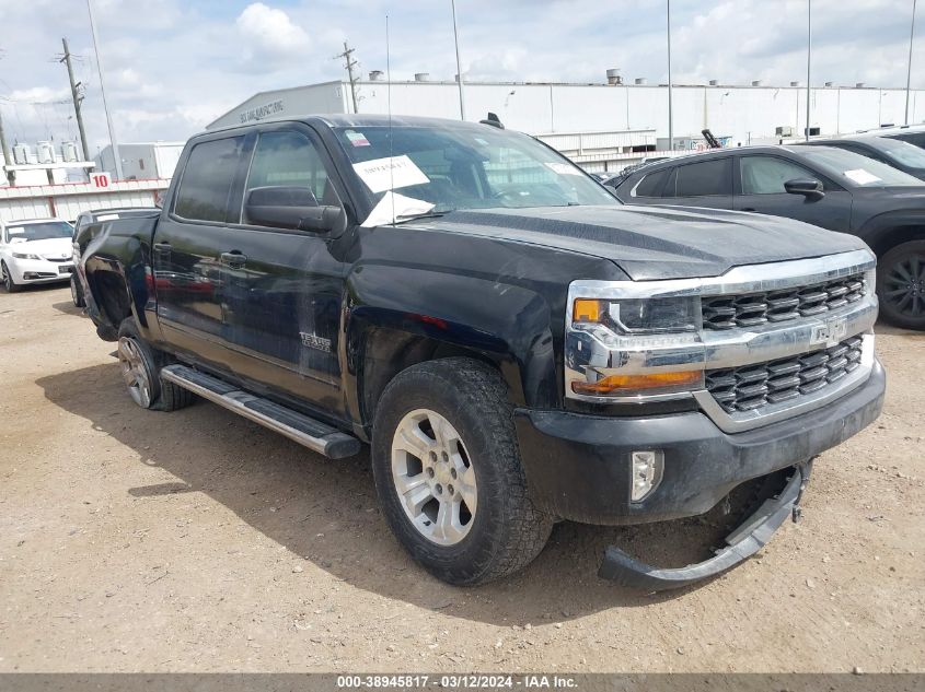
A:
[[[384,75],[355,82],[359,113],[388,113],[390,84]],[[589,171],[620,169],[645,152],[668,148],[668,86],[645,80],[623,83],[614,70],[609,83],[563,84],[534,82],[467,82],[466,119],[488,112],[509,128],[537,136]],[[704,145],[701,131],[709,129],[725,144],[772,143],[801,137],[806,128],[805,86],[794,82],[771,86],[682,84],[672,87],[675,149]],[[809,125],[820,134],[839,134],[905,121],[905,90],[856,84],[813,87]],[[918,101],[922,105],[918,105]],[[401,115],[459,118],[455,81],[391,83],[392,112]],[[347,81],[310,84],[255,94],[208,129],[285,119],[309,114],[352,113]],[[925,121],[925,91],[910,95],[910,122]]]

